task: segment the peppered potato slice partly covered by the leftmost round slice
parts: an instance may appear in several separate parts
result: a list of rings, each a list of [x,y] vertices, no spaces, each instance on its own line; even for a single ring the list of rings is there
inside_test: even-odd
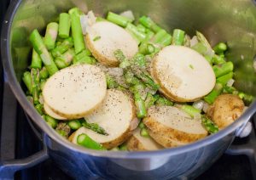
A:
[[[134,121],[137,121],[136,110],[133,101],[125,93],[109,89],[107,97],[102,105],[86,120],[90,123],[97,123],[108,132],[108,136],[96,133],[85,127],[74,132],[73,143],[77,143],[77,137],[81,133],[87,134],[107,149],[113,149],[131,137]]]

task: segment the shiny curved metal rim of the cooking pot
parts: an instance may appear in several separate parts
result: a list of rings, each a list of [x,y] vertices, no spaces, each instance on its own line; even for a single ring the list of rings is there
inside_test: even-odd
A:
[[[49,136],[56,143],[60,143],[67,149],[71,149],[75,152],[79,152],[84,155],[92,155],[98,157],[106,157],[106,158],[119,158],[119,159],[143,159],[148,158],[153,155],[163,156],[163,155],[178,155],[191,150],[200,149],[204,146],[209,145],[210,143],[214,143],[221,138],[229,134],[234,134],[236,129],[239,129],[244,123],[246,123],[256,111],[256,101],[251,104],[246,112],[241,115],[241,117],[232,123],[229,127],[226,127],[224,130],[219,131],[218,133],[207,136],[207,138],[203,138],[195,143],[189,143],[187,145],[172,148],[172,149],[161,149],[157,151],[143,151],[143,152],[126,152],[126,151],[98,151],[92,149],[85,149],[84,147],[78,146],[74,143],[69,142],[67,139],[59,136],[51,127],[47,125],[47,123],[43,120],[43,118],[38,114],[38,112],[34,109],[33,105],[28,102],[26,99],[26,95],[20,87],[20,83],[17,81],[15,76],[15,70],[12,65],[12,57],[10,54],[10,30],[13,24],[13,20],[15,17],[15,13],[17,9],[20,7],[21,0],[12,1],[9,5],[7,14],[3,20],[2,33],[1,33],[1,49],[2,49],[2,61],[3,61],[3,70],[5,78],[9,83],[15,97],[19,101],[23,110],[26,110],[26,113],[31,117],[32,121],[40,127],[44,133]]]

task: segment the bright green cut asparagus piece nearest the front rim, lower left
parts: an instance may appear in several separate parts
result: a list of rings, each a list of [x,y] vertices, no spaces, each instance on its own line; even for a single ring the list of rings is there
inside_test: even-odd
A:
[[[84,133],[78,136],[77,143],[88,149],[106,150],[105,148],[102,147],[101,143],[96,143],[96,141],[94,141],[92,138],[90,138],[88,135]]]

